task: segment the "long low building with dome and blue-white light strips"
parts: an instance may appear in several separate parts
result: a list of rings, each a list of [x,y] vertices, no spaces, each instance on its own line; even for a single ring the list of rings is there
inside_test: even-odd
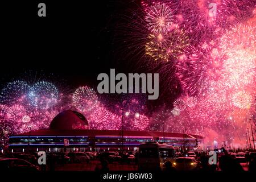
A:
[[[30,131],[9,138],[13,151],[101,151],[138,150],[142,142],[164,142],[180,147],[196,147],[203,137],[182,133],[158,131],[90,130],[87,119],[81,113],[65,110],[56,115],[49,129]]]

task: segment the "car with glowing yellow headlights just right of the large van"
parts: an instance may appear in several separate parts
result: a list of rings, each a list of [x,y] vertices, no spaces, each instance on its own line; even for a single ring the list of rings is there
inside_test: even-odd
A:
[[[173,166],[179,171],[192,171],[200,169],[200,164],[193,157],[180,157],[175,160]]]

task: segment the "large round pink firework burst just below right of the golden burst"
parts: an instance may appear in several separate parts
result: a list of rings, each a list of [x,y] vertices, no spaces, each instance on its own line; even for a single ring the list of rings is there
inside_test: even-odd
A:
[[[181,85],[193,96],[201,96],[209,90],[211,82],[220,80],[225,56],[211,44],[190,47],[186,56],[176,61]]]

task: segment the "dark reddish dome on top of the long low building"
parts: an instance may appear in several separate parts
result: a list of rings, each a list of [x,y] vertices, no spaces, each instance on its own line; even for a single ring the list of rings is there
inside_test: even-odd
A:
[[[56,115],[49,125],[51,130],[85,130],[89,129],[87,119],[81,113],[73,110],[65,110]]]

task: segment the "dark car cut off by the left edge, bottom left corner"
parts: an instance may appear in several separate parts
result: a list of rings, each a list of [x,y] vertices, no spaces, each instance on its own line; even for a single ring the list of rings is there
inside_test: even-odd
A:
[[[40,168],[23,159],[0,158],[0,171],[40,171]]]

